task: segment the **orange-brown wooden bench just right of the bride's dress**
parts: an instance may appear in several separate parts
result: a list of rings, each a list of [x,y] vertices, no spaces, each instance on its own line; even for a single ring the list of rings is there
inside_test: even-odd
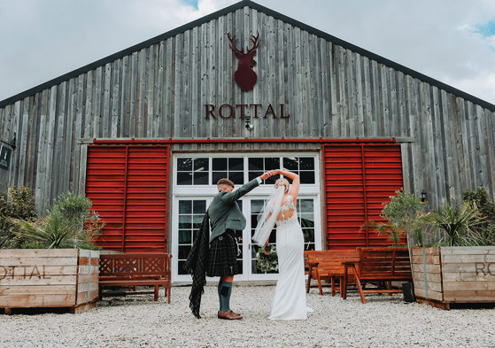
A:
[[[306,293],[311,287],[311,280],[315,279],[318,282],[320,295],[323,295],[321,281],[326,280],[330,282],[332,296],[335,296],[336,277],[338,279],[344,277],[343,263],[357,260],[358,254],[354,250],[305,251],[306,267],[308,267]]]

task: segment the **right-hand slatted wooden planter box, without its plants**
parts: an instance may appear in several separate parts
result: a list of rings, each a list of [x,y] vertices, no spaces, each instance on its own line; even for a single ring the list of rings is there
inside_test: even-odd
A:
[[[418,302],[450,309],[452,303],[495,303],[495,246],[413,248]]]

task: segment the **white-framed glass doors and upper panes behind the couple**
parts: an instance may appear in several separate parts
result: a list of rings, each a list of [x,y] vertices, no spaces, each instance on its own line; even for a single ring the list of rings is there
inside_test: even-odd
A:
[[[171,209],[172,281],[190,282],[183,270],[184,262],[194,244],[206,209],[217,192],[216,182],[228,178],[238,189],[245,182],[271,169],[288,169],[298,173],[301,186],[298,197],[298,219],[305,234],[306,250],[321,250],[321,196],[315,153],[200,153],[174,156],[173,199]],[[237,263],[242,274],[236,281],[276,280],[276,270],[262,272],[257,267],[259,248],[251,244],[259,210],[269,197],[277,178],[272,177],[253,189],[237,203],[246,217],[246,228],[237,233],[241,249]],[[275,231],[270,243],[276,246]],[[213,279],[209,279],[213,280]]]

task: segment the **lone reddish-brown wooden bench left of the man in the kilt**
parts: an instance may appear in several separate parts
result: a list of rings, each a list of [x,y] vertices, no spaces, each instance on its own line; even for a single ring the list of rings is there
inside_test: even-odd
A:
[[[154,294],[159,300],[159,286],[165,288],[170,303],[170,259],[166,253],[104,254],[100,256],[99,298],[104,287],[154,286],[153,291],[126,291],[119,295]],[[112,294],[113,295],[113,294]]]

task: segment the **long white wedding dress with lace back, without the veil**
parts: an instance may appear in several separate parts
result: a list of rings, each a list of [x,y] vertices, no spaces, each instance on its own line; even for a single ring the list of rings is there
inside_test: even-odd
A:
[[[290,218],[284,212],[293,210]],[[276,221],[276,250],[280,278],[276,284],[272,304],[272,320],[306,319],[306,313],[313,309],[306,306],[304,236],[298,222],[293,198],[289,195],[282,205],[284,220]]]

